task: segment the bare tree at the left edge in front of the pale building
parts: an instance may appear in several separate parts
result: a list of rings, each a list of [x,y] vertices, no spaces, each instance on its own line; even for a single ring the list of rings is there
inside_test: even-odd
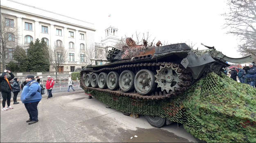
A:
[[[18,27],[14,25],[14,20],[8,19],[6,15],[2,15],[2,13],[0,13],[0,20],[0,55],[3,67],[2,71],[4,71],[7,55],[12,52],[12,50],[9,49],[15,48],[19,40],[19,35]]]

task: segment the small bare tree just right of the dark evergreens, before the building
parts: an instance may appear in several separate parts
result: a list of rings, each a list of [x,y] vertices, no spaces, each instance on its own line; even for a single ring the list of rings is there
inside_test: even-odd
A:
[[[50,49],[50,64],[55,68],[55,76],[57,81],[57,73],[62,64],[68,60],[68,51],[63,46],[54,43],[54,47]]]

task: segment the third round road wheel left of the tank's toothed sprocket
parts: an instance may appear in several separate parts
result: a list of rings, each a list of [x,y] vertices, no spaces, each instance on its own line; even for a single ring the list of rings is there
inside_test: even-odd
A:
[[[119,87],[119,74],[117,72],[110,72],[106,77],[106,85],[108,86],[109,90],[116,90]]]

